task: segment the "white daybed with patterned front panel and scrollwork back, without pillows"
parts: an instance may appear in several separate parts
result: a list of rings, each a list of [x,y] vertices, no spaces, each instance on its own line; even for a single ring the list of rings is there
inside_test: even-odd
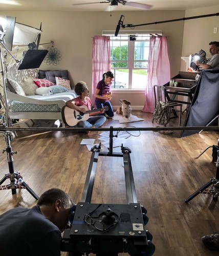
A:
[[[60,71],[61,72],[61,71]],[[68,71],[67,71],[68,72]],[[66,73],[66,72],[65,72]],[[67,73],[68,74],[68,73]],[[61,76],[61,73],[60,73]],[[25,78],[38,77],[37,70],[17,70],[15,64],[10,70],[10,77],[17,83]],[[64,126],[61,109],[65,102],[76,97],[74,90],[55,93],[52,95],[26,95],[21,96],[7,90],[10,119],[44,119],[60,120]]]

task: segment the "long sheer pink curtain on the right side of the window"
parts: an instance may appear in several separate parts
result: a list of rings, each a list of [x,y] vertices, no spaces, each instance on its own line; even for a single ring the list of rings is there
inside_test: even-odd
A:
[[[143,112],[153,113],[155,97],[153,86],[163,86],[170,80],[170,65],[165,36],[151,36],[149,44],[147,83]]]

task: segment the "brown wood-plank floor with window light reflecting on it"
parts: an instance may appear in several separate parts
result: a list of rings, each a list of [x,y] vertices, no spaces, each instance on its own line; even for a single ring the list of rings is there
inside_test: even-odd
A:
[[[107,119],[105,126],[157,126],[151,122],[152,114],[133,111],[133,115],[144,118],[144,121],[120,124]],[[178,120],[171,119],[168,125],[177,126]],[[14,169],[21,173],[37,195],[58,187],[77,203],[81,200],[91,157],[91,152],[80,142],[83,138],[94,138],[99,143],[99,133],[18,132],[18,138],[11,142],[12,150],[18,151],[13,156]],[[218,131],[204,131],[184,138],[180,138],[180,131],[173,131],[170,135],[155,131],[130,133],[133,136],[124,139],[123,146],[132,150],[130,158],[137,198],[147,209],[149,222],[146,229],[154,237],[154,255],[218,255],[218,252],[203,246],[201,237],[219,230],[219,203],[212,201],[211,195],[204,194],[189,203],[184,201],[215,176],[212,150],[209,149],[199,159],[195,156],[207,146],[216,144]],[[2,138],[0,147],[6,147]],[[114,151],[120,152],[120,147]],[[122,164],[122,158],[99,157],[93,203],[126,203]],[[1,154],[0,178],[8,172],[6,153]],[[4,184],[8,184],[8,180]],[[0,213],[13,207],[36,204],[26,189],[18,190],[13,196],[11,190],[1,190],[0,193]]]

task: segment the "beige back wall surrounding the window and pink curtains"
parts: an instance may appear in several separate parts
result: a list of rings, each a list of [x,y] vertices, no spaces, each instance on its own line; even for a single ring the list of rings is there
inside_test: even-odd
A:
[[[162,20],[181,18],[184,11],[134,11],[134,12],[0,12],[0,16],[15,16],[18,23],[39,28],[42,22],[41,43],[54,41],[54,47],[61,52],[62,60],[57,66],[42,63],[40,69],[68,69],[73,84],[84,80],[89,88],[92,83],[92,37],[101,35],[102,30],[115,30],[120,15],[125,16],[124,24],[145,24]],[[162,29],[167,36],[171,76],[178,74],[181,67],[184,22],[163,23],[136,29]],[[134,30],[135,31],[135,30]],[[46,49],[48,45],[41,46]],[[101,79],[101,78],[100,78]],[[113,105],[126,98],[139,109],[144,105],[144,93],[116,94]]]

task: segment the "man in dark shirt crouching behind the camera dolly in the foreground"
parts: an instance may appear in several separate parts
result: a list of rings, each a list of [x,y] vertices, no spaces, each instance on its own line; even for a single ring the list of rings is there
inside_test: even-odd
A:
[[[0,215],[0,254],[60,256],[61,232],[76,207],[58,188],[43,193],[31,209],[16,207]]]

